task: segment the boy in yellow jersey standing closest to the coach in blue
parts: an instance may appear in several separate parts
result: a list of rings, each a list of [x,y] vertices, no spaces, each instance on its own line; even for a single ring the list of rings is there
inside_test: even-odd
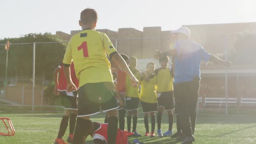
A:
[[[157,91],[158,91],[158,137],[170,136],[172,134],[174,95],[173,95],[173,70],[168,68],[169,57],[164,56],[159,59],[161,68],[155,70],[157,75]],[[169,118],[169,129],[162,134],[161,121],[164,109],[167,111]]]

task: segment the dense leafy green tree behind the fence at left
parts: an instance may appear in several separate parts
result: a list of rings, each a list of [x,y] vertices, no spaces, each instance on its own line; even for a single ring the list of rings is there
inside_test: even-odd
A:
[[[30,33],[20,38],[1,39],[0,43],[61,42],[50,33]],[[62,62],[66,43],[36,44],[35,75],[53,78],[53,71]],[[10,45],[8,52],[8,76],[31,76],[33,74],[33,44]],[[0,47],[0,77],[4,77],[6,51]]]

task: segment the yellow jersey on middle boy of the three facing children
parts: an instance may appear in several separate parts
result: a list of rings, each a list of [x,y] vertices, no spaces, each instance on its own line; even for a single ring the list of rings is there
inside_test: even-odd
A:
[[[140,100],[143,102],[148,103],[156,103],[157,102],[157,76],[152,75],[149,81],[145,81],[144,79],[141,80],[141,93],[140,93]]]

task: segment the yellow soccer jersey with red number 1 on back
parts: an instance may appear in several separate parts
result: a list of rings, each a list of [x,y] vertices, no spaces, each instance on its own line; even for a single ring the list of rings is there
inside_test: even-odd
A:
[[[106,53],[109,56],[116,53],[108,36],[84,29],[70,39],[63,64],[70,65],[73,61],[79,87],[86,83],[113,82]]]

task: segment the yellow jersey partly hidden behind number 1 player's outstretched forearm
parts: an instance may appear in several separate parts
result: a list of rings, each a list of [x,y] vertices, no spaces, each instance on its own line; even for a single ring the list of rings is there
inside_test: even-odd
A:
[[[134,76],[140,82],[139,74],[135,73]],[[132,86],[131,79],[129,78],[128,75],[126,75],[126,79],[125,79],[125,96],[132,97],[132,98],[138,98],[139,97],[139,85],[138,85],[138,87],[134,88]]]

